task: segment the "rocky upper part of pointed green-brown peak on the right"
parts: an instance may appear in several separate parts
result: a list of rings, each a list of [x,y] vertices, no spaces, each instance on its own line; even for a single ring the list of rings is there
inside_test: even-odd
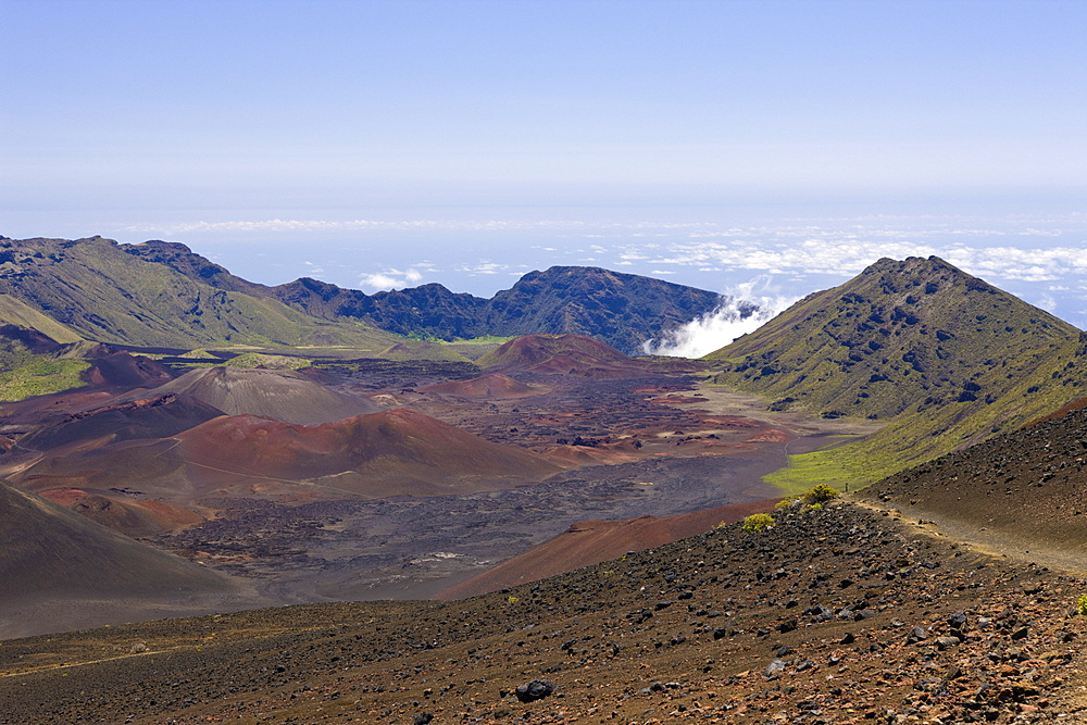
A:
[[[709,358],[734,361],[722,382],[816,412],[888,417],[970,398],[992,361],[1026,364],[1077,333],[939,258],[911,257],[880,259]]]

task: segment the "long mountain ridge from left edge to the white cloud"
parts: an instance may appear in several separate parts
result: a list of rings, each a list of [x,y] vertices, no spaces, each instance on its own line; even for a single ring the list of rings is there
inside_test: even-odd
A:
[[[0,322],[29,320],[63,341],[376,351],[401,336],[451,341],[572,333],[638,353],[645,342],[713,312],[723,299],[592,266],[529,272],[490,299],[438,283],[366,295],[312,277],[277,286],[252,283],[184,243],[160,239],[0,237],[0,302],[11,300],[0,304]]]

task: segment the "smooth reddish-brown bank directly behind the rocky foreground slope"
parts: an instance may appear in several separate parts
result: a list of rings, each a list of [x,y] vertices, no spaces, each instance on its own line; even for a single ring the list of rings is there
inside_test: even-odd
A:
[[[629,551],[652,549],[704,534],[721,523],[732,524],[752,513],[772,511],[779,500],[737,503],[663,518],[579,521],[550,541],[450,587],[434,599],[476,597],[619,559]]]

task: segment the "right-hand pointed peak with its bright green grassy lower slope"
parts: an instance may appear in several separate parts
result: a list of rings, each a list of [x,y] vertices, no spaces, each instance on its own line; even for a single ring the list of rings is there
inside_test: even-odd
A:
[[[827,417],[888,420],[871,438],[794,457],[783,483],[871,482],[1083,395],[1072,325],[938,258],[879,260],[708,355],[714,380]]]

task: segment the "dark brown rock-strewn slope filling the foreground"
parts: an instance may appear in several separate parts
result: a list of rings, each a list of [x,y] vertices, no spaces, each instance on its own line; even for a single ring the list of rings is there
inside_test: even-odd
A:
[[[762,533],[730,525],[464,601],[3,642],[0,722],[1087,717],[1082,578],[851,504],[777,517]]]

